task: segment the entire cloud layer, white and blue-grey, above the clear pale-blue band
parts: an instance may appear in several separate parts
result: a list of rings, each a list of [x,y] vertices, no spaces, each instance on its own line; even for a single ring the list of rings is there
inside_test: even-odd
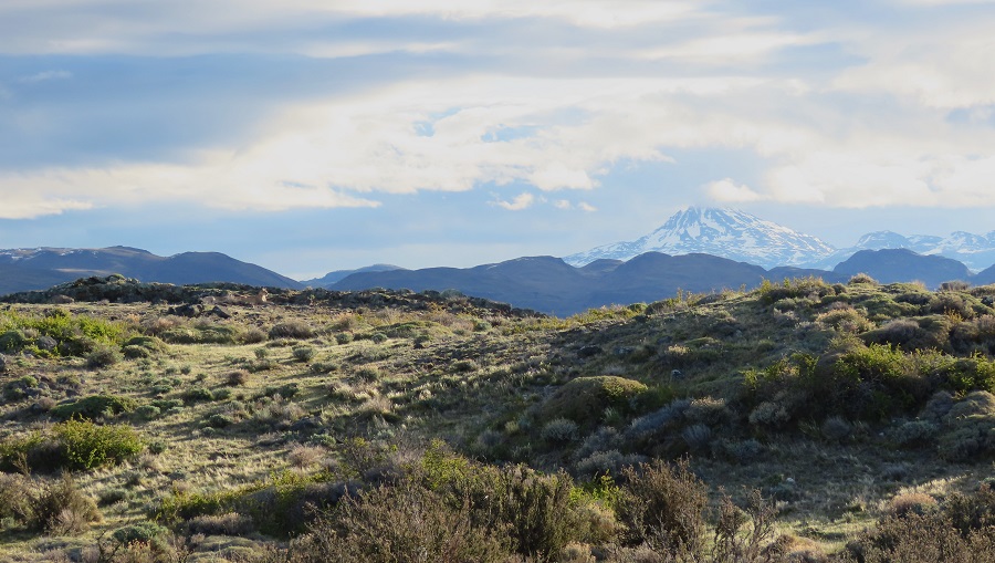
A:
[[[995,18],[918,3],[938,6],[879,21],[682,0],[11,0],[0,51],[77,56],[10,56],[0,197],[36,194],[24,217],[370,207],[617,189],[619,170],[685,166],[671,156],[683,149],[751,155],[748,185],[723,160],[690,184],[725,178],[702,186],[720,201],[995,205]],[[64,97],[25,94],[67,77]],[[570,197],[554,206],[594,210]]]

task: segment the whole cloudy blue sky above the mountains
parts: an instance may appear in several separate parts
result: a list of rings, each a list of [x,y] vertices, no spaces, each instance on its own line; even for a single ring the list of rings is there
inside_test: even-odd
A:
[[[295,279],[995,231],[995,0],[3,0],[0,248]]]

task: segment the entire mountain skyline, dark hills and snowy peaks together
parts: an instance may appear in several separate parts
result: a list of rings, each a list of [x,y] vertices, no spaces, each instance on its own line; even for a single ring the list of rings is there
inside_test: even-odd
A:
[[[967,257],[970,262],[954,257]],[[842,282],[867,273],[882,283],[995,283],[995,233],[903,237],[872,232],[835,249],[819,239],[731,209],[690,208],[631,242],[566,257],[528,257],[474,268],[406,270],[375,264],[294,281],[217,252],[159,257],[127,247],[0,250],[0,294],[40,290],[77,278],[121,273],[175,284],[233,282],[339,291],[370,288],[458,290],[514,306],[568,315],[608,304],[650,302],[678,290],[754,288],[764,279],[817,275]],[[972,270],[977,271],[973,273]]]

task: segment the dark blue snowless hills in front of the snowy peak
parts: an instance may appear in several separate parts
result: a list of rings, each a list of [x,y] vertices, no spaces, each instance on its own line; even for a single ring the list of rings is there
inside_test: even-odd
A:
[[[907,249],[884,249],[858,251],[832,271],[794,267],[766,270],[711,254],[646,252],[628,261],[600,259],[580,268],[558,258],[532,257],[464,269],[360,272],[326,288],[339,291],[453,289],[544,313],[570,315],[601,305],[659,301],[675,295],[678,290],[709,293],[750,289],[765,279],[779,283],[807,275],[837,283],[857,273],[867,273],[881,283],[921,281],[930,288],[954,280],[978,285],[995,283],[995,267],[975,275],[956,260]]]

